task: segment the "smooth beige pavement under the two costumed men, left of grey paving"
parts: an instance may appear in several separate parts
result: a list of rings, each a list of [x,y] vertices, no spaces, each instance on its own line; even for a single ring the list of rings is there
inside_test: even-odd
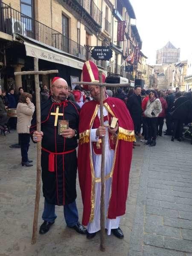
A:
[[[58,218],[45,235],[39,235],[35,245],[31,244],[32,221],[35,202],[36,145],[31,142],[29,158],[34,166],[20,164],[20,149],[9,145],[17,143],[17,133],[12,131],[6,137],[0,136],[0,256],[127,256],[140,172],[145,146],[134,149],[131,165],[129,198],[126,214],[121,218],[120,227],[124,239],[106,235],[106,251],[99,251],[99,234],[92,240],[66,227],[62,207],[56,207]],[[142,144],[142,143],[141,143]],[[77,206],[79,220],[82,218],[82,201],[77,179]],[[41,192],[38,229],[42,223],[41,214],[44,198]]]

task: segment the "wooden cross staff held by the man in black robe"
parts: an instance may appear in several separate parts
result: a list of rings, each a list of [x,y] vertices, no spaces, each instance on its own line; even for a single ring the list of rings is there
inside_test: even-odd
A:
[[[15,76],[19,75],[35,75],[35,96],[36,96],[36,113],[37,113],[37,131],[41,132],[41,105],[40,105],[40,90],[39,90],[39,75],[48,75],[58,73],[58,70],[39,71],[38,58],[34,58],[34,71],[15,72]],[[35,196],[35,210],[33,219],[33,233],[32,244],[37,240],[38,229],[38,213],[39,213],[39,199],[41,189],[41,141],[37,143],[37,178],[36,178],[36,196]]]

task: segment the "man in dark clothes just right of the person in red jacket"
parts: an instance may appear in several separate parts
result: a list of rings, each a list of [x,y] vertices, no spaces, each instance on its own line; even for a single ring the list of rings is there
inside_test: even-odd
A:
[[[166,97],[166,102],[167,102],[167,113],[166,113],[167,130],[166,130],[165,135],[172,135],[173,122],[172,122],[172,117],[170,116],[170,112],[172,112],[171,109],[174,105],[175,94],[173,93],[173,90],[168,90],[167,94],[168,94],[168,96]]]

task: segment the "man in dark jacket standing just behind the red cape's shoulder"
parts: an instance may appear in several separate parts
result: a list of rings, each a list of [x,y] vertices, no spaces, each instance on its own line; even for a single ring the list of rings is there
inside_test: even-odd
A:
[[[135,134],[141,137],[141,87],[140,85],[136,85],[134,88],[134,93],[128,98],[127,108],[131,114],[131,117],[134,122],[134,130]],[[134,143],[134,145],[139,145]]]

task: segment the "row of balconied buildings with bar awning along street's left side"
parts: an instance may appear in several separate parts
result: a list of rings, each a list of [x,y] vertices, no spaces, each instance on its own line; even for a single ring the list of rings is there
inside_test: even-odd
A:
[[[0,78],[5,89],[23,86],[35,90],[34,76],[14,76],[14,72],[34,70],[33,58],[39,58],[39,70],[58,69],[58,76],[71,81],[81,78],[86,60],[96,63],[105,76],[138,78],[125,61],[142,47],[136,19],[128,0],[9,0],[0,1]],[[117,40],[119,21],[126,21],[125,35]],[[110,61],[91,57],[94,46],[110,46]],[[54,75],[40,76],[40,85],[49,87]]]

